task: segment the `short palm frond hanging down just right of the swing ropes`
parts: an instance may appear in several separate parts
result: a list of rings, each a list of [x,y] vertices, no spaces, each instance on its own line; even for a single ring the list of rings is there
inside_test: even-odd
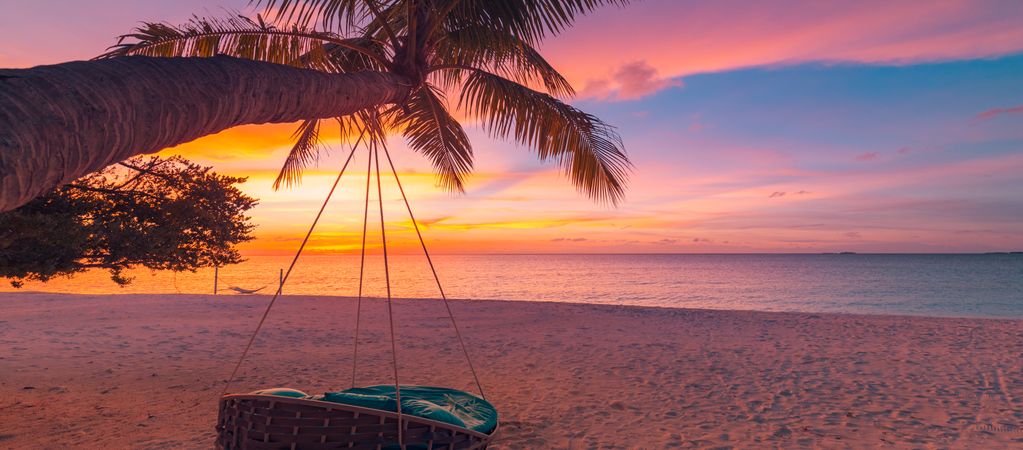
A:
[[[409,97],[406,107],[397,110],[395,125],[409,147],[430,159],[442,186],[463,191],[464,176],[473,170],[473,145],[445,107],[443,93],[427,85]]]

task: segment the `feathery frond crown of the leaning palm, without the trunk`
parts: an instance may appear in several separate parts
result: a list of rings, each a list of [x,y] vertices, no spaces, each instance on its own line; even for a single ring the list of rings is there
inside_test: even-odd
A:
[[[231,56],[327,73],[386,71],[408,80],[402,104],[337,118],[348,143],[385,145],[397,129],[434,166],[441,185],[462,191],[473,147],[447,95],[495,137],[560,165],[589,196],[617,204],[631,168],[614,127],[564,102],[569,82],[536,50],[580,15],[627,0],[253,0],[256,19],[194,17],[144,24],[102,57]],[[315,92],[298,93],[316,95]],[[505,109],[510,108],[510,109]],[[316,161],[319,121],[296,132],[274,188],[300,181]],[[354,133],[353,133],[354,131]]]

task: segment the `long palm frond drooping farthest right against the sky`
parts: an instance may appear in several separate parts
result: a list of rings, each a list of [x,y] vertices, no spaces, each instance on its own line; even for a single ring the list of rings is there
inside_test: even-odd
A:
[[[572,182],[598,201],[617,205],[631,164],[621,137],[596,117],[514,81],[473,71],[459,106],[494,137],[514,138],[554,160]]]

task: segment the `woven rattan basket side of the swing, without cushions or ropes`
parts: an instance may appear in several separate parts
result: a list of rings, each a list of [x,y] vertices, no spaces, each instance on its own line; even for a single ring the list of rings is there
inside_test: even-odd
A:
[[[403,414],[406,447],[482,450],[486,435]],[[223,450],[396,448],[398,414],[318,400],[269,395],[228,395],[220,400],[217,448]],[[413,447],[414,446],[414,447]]]

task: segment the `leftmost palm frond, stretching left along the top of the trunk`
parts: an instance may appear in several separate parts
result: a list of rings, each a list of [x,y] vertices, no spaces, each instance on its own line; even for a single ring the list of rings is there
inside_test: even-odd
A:
[[[215,56],[225,54],[307,69],[330,69],[340,72],[344,60],[331,60],[330,48],[345,48],[385,65],[379,48],[366,46],[362,39],[344,39],[332,33],[294,27],[279,30],[261,17],[243,15],[229,18],[193,16],[182,26],[146,22],[134,33],[124,35],[99,58],[128,55],[142,56]]]

